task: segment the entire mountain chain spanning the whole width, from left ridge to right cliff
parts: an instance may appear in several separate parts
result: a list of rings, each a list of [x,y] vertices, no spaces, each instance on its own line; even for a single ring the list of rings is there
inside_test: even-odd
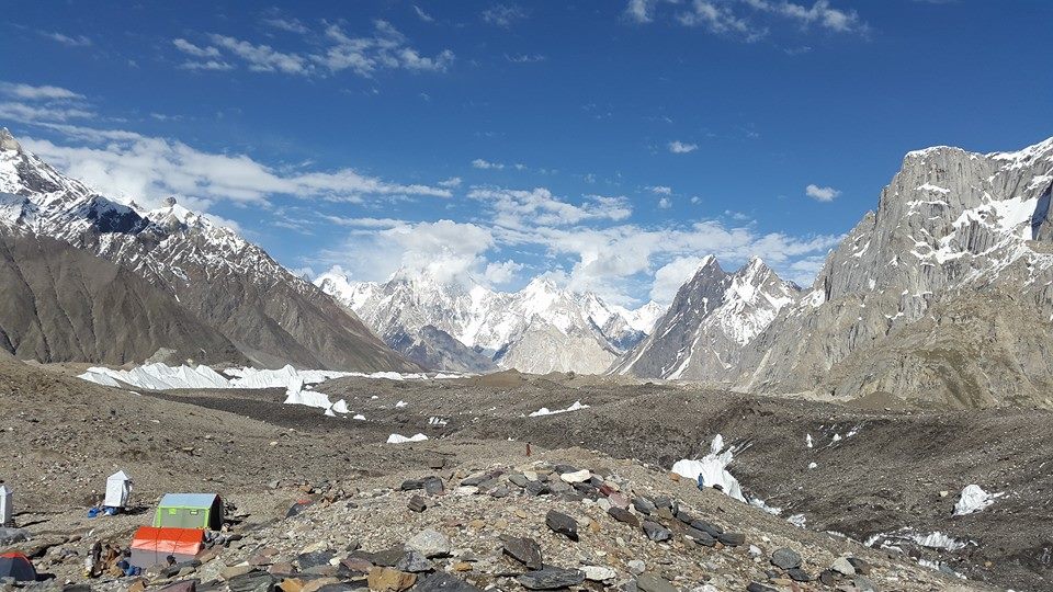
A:
[[[0,351],[356,371],[616,374],[940,407],[1053,407],[1053,138],[909,152],[802,289],[702,259],[668,308],[539,277],[294,276],[174,201],[92,192],[0,132]]]

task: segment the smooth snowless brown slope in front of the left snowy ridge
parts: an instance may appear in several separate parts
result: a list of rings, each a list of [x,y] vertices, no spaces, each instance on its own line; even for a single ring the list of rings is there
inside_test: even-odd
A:
[[[0,226],[0,349],[23,360],[248,362],[169,294],[66,242]]]

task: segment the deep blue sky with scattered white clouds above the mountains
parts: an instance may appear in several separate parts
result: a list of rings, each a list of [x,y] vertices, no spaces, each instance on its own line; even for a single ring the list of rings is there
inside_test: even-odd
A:
[[[1038,0],[99,4],[7,11],[0,123],[352,280],[809,283],[904,152],[1051,135]]]

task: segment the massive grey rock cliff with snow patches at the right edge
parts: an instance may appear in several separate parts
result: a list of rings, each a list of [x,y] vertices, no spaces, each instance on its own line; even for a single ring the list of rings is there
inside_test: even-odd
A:
[[[1053,406],[1051,185],[1053,138],[1016,152],[909,152],[812,289],[747,344],[734,382]]]

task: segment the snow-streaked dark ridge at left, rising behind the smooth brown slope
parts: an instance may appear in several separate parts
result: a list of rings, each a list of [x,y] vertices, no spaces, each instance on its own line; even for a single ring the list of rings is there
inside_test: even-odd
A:
[[[234,230],[170,200],[146,212],[0,134],[0,223],[101,257],[167,292],[256,365],[414,371],[353,314]]]

